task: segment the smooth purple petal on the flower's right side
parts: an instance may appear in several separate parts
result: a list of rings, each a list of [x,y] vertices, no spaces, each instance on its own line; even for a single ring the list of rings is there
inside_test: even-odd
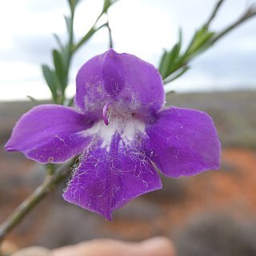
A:
[[[198,110],[171,107],[146,126],[147,154],[171,177],[218,169],[221,145],[210,116]]]

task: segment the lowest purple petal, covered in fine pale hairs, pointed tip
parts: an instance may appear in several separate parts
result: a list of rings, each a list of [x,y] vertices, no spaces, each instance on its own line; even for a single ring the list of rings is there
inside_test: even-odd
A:
[[[138,142],[125,146],[116,133],[109,149],[101,143],[82,157],[63,197],[110,220],[114,210],[162,183]]]

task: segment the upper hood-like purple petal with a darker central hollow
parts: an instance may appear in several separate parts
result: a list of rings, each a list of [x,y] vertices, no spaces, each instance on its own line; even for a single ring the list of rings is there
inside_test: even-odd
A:
[[[108,50],[78,71],[75,102],[85,113],[100,117],[103,106],[111,102],[118,110],[143,115],[160,110],[164,100],[158,70],[134,55]]]

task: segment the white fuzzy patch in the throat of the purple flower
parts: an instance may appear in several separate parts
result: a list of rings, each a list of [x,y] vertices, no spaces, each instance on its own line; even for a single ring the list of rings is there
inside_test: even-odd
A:
[[[112,136],[118,132],[124,144],[134,141],[136,134],[145,134],[145,123],[133,117],[112,117],[106,126],[103,120],[96,122],[90,129],[83,131],[84,136],[97,136],[102,139],[102,147],[110,149]]]

